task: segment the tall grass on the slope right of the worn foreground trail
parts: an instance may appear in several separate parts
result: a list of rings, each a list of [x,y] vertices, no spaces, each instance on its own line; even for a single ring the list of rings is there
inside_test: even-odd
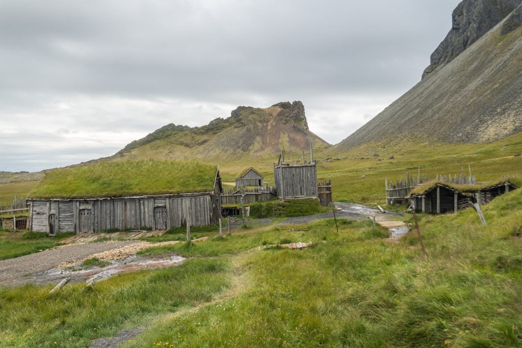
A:
[[[415,237],[385,243],[371,224],[330,222],[303,250],[245,262],[248,290],[159,323],[126,346],[522,346],[522,192],[484,207],[423,216]]]

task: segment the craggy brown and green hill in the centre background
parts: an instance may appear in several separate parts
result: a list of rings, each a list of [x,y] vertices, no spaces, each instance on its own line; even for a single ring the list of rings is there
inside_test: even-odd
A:
[[[282,102],[266,109],[240,106],[228,118],[202,127],[163,126],[129,143],[112,158],[223,159],[249,155],[276,156],[281,149],[298,152],[324,148],[326,141],[310,131],[300,101]]]

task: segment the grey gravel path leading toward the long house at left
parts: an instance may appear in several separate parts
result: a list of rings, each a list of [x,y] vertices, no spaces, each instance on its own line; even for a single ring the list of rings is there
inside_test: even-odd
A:
[[[120,241],[73,244],[40,251],[40,253],[25,255],[15,259],[2,260],[0,261],[0,286],[24,284],[31,279],[30,274],[50,270],[62,262],[84,259],[93,254],[101,253],[102,251],[135,243],[139,242]]]

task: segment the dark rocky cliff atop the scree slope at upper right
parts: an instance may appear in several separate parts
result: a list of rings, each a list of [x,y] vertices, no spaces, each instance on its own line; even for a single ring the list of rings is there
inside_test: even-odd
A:
[[[422,78],[438,66],[451,62],[521,3],[522,0],[464,0],[459,3],[453,10],[452,29],[432,53],[430,66],[424,70]],[[516,18],[513,22],[516,24]]]

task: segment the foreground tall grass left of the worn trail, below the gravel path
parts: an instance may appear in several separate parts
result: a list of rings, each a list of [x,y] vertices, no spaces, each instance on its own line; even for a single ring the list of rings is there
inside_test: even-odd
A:
[[[52,286],[0,289],[4,346],[88,346],[93,339],[148,324],[168,311],[209,302],[231,283],[229,262],[211,259],[121,274],[92,288],[70,284],[49,294]]]

